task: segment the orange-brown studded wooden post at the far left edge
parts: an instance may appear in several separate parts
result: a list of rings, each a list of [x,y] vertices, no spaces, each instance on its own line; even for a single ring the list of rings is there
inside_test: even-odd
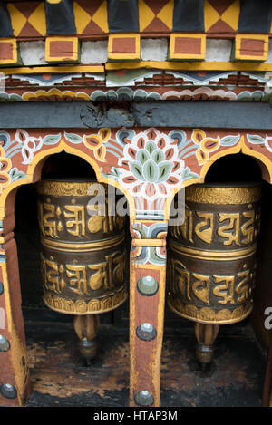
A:
[[[1,221],[0,405],[23,406],[30,394],[14,214]]]

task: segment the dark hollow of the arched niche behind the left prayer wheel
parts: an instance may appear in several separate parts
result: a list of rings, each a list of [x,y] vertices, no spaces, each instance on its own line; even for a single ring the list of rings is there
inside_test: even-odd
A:
[[[94,169],[80,157],[65,151],[53,154],[43,161],[40,179],[90,179],[96,180]],[[112,193],[116,189],[112,187]],[[121,193],[121,192],[118,192]],[[122,197],[122,202],[126,198]],[[27,208],[25,208],[27,206]],[[126,205],[124,207],[127,207]],[[124,210],[125,213],[125,210]],[[18,250],[22,304],[27,317],[37,310],[40,318],[52,318],[61,322],[71,322],[71,317],[49,310],[43,303],[40,275],[40,230],[37,214],[37,194],[35,184],[22,185],[15,196],[15,241]],[[126,237],[130,239],[128,226]],[[128,248],[130,246],[128,240]],[[33,310],[33,313],[32,313]],[[104,314],[102,323],[113,323],[115,311]]]

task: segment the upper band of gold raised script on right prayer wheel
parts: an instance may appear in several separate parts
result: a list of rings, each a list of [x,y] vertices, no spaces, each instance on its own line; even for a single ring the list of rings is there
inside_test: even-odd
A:
[[[217,236],[223,246],[247,246],[257,237],[259,225],[259,211],[253,209],[240,213],[186,210],[183,224],[173,227],[171,233],[191,244],[196,242],[196,237],[212,244]]]

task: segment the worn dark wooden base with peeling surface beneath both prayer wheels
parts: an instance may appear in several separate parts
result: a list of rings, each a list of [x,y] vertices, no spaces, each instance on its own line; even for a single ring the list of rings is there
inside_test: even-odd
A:
[[[25,324],[32,389],[27,407],[128,407],[128,320],[101,324],[99,355],[90,368],[78,356],[73,323],[35,322],[33,314],[31,319]],[[250,327],[222,326],[210,370],[203,371],[194,362],[194,342],[191,323],[178,321],[166,311],[162,410],[171,406],[260,407],[266,359]]]

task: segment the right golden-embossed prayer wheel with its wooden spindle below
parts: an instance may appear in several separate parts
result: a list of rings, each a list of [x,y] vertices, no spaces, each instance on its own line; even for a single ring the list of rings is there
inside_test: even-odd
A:
[[[170,227],[168,304],[195,322],[202,364],[212,359],[219,325],[252,310],[260,198],[260,184],[192,185],[183,223]]]

